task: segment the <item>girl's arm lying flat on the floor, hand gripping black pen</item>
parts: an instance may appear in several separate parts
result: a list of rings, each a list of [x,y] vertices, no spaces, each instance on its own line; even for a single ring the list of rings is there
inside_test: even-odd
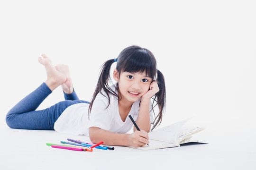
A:
[[[92,143],[101,141],[106,145],[141,147],[148,144],[148,136],[145,131],[136,131],[132,134],[114,133],[99,127],[90,127],[89,136]]]

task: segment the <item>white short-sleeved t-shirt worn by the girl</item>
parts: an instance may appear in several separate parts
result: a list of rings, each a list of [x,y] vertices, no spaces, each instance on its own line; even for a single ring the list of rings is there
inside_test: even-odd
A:
[[[116,84],[115,84],[116,85]],[[110,88],[115,90],[115,85]],[[101,91],[105,96],[106,93]],[[72,135],[85,135],[89,136],[90,127],[99,127],[104,130],[115,133],[127,133],[132,127],[133,123],[128,118],[125,122],[122,121],[119,115],[118,99],[116,96],[110,94],[110,105],[108,106],[108,99],[101,93],[96,96],[88,120],[88,103],[77,103],[67,107],[54,124],[54,129],[57,132],[72,134]],[[128,115],[136,121],[139,112],[140,99],[132,104],[131,110]],[[152,104],[150,103],[150,110]],[[154,121],[154,113],[150,111],[150,121]]]

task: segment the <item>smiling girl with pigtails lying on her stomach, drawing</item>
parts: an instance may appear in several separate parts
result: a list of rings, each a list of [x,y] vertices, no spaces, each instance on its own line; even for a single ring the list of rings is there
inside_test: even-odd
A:
[[[140,147],[149,143],[147,133],[151,124],[153,130],[161,123],[165,109],[164,76],[156,69],[155,57],[149,50],[130,46],[121,51],[118,58],[106,61],[91,102],[78,99],[67,66],[53,67],[46,55],[42,57],[38,61],[45,66],[47,79],[9,110],[6,116],[9,127],[89,135],[91,142],[104,141],[106,145]],[[117,66],[113,78],[117,83],[110,86],[110,68],[114,62]],[[59,85],[65,101],[36,110]],[[156,117],[151,98],[159,107]],[[141,131],[137,131],[128,115]],[[132,127],[134,132],[127,134]]]

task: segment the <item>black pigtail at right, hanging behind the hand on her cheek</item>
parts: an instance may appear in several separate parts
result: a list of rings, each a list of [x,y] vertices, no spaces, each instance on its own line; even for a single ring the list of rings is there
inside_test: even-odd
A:
[[[157,93],[155,93],[155,96],[153,98],[153,104],[152,106],[154,106],[154,102],[156,101],[157,105],[158,105],[158,108],[159,108],[159,113],[157,114],[157,116],[155,117],[155,120],[153,122],[153,124],[155,124],[151,131],[160,123],[162,122],[162,119],[163,119],[163,112],[165,110],[165,104],[166,104],[166,93],[165,93],[165,77],[164,75],[159,71],[157,70],[157,79],[156,79],[156,82],[158,84],[158,87],[159,87],[159,91]],[[157,100],[155,100],[155,98]],[[157,119],[157,120],[156,120]],[[155,123],[156,121],[156,123]]]

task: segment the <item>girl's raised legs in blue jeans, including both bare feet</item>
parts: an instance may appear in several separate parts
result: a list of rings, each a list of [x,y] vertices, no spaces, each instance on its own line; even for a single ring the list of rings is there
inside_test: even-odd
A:
[[[47,79],[36,90],[18,102],[6,115],[6,123],[11,128],[53,130],[54,123],[62,112],[76,103],[89,103],[79,100],[73,90],[69,68],[66,65],[53,66],[46,55],[38,58],[39,63],[46,68]],[[37,107],[59,85],[64,91],[65,101],[44,110]]]

